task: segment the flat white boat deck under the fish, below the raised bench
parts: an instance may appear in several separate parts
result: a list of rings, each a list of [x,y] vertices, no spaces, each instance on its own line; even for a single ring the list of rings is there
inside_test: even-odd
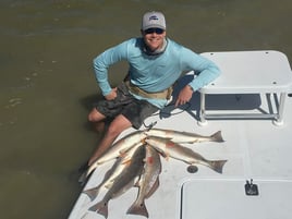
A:
[[[234,97],[234,101],[238,101],[235,99]],[[192,104],[196,105],[197,101],[192,101]],[[207,159],[228,160],[222,174],[199,165],[197,172],[190,173],[187,172],[188,165],[172,158],[161,157],[160,185],[154,195],[145,202],[149,218],[191,219],[192,217],[204,217],[211,219],[218,218],[218,214],[224,218],[234,218],[234,216],[241,218],[242,215],[252,217],[252,212],[245,211],[244,206],[248,205],[255,207],[254,214],[257,218],[272,218],[272,214],[264,210],[270,205],[278,205],[273,206],[273,211],[281,211],[282,218],[288,218],[292,212],[287,211],[289,208],[283,206],[283,203],[292,200],[292,191],[289,190],[292,185],[292,166],[290,163],[292,154],[291,110],[292,98],[288,97],[284,123],[280,126],[275,125],[270,120],[210,120],[207,125],[199,126],[196,120],[197,112],[192,107],[187,110],[173,109],[169,117],[162,113],[162,118],[160,118],[161,114],[157,114],[147,119],[145,124],[157,122],[155,127],[159,129],[193,132],[200,135],[211,135],[221,131],[223,143],[208,142],[183,145]],[[132,129],[125,131],[121,137],[133,131]],[[110,161],[96,169],[85,190],[97,186],[112,163]],[[258,185],[258,196],[245,195],[244,185],[251,179],[253,179],[254,184]],[[279,191],[277,192],[277,190]],[[137,187],[133,187],[123,195],[111,199],[108,218],[143,218],[143,216],[126,215],[126,210],[136,198],[137,191]],[[102,191],[93,202],[86,194],[81,194],[70,219],[104,218],[102,215],[88,211],[88,208],[98,203],[106,192]],[[283,197],[285,193],[290,195]],[[273,197],[280,200],[269,203],[268,200]],[[250,203],[250,200],[254,203]],[[223,209],[228,208],[227,206],[232,206],[233,210]],[[258,206],[263,206],[263,209]]]

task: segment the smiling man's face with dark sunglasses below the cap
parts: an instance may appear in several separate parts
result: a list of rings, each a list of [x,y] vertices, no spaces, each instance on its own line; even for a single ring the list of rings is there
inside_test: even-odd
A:
[[[163,39],[166,37],[166,31],[160,28],[149,28],[142,31],[142,35],[147,47],[155,51],[163,46]]]

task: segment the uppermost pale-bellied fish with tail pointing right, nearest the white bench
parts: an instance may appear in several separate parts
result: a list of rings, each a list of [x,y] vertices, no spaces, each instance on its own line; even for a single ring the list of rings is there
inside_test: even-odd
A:
[[[180,132],[174,130],[151,129],[146,131],[148,136],[157,136],[163,138],[171,138],[174,143],[203,143],[203,142],[224,142],[221,131],[214,133],[210,136],[204,136],[191,132]]]

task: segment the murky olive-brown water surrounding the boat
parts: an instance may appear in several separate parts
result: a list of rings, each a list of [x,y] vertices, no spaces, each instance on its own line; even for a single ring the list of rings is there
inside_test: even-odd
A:
[[[196,52],[276,49],[292,60],[290,0],[0,1],[1,218],[66,218],[78,167],[100,136],[87,123],[99,95],[92,60],[139,36],[148,10]],[[110,69],[112,84],[126,63]]]

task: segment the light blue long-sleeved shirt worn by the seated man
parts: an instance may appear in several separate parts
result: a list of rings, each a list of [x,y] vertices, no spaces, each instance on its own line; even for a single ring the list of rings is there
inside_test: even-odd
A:
[[[167,40],[166,50],[157,56],[149,56],[143,51],[143,38],[132,38],[95,58],[95,75],[102,95],[106,96],[111,92],[108,68],[121,60],[129,62],[131,83],[149,93],[167,89],[174,84],[182,72],[194,71],[196,74],[188,84],[193,90],[202,88],[219,76],[219,69],[210,60],[173,40]],[[158,108],[162,108],[167,104],[165,99],[134,96],[137,99],[146,99]]]

